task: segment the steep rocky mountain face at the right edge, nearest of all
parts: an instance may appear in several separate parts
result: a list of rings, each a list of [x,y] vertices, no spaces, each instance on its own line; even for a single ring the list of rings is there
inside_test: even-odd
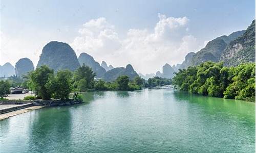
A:
[[[227,45],[220,61],[224,61],[226,66],[235,66],[244,62],[255,62],[255,20],[252,21],[242,36],[234,39]]]

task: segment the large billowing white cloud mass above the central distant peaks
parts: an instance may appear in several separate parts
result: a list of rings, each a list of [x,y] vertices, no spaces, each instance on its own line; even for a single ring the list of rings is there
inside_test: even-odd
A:
[[[158,17],[153,32],[130,29],[123,39],[105,18],[92,19],[82,25],[71,46],[78,56],[86,52],[114,66],[131,63],[142,73],[156,72],[165,63],[181,63],[188,52],[199,49],[201,44],[188,33],[187,17]]]

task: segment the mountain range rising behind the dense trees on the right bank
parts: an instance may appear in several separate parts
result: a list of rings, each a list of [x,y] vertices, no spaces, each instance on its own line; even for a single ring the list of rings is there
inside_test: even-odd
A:
[[[179,69],[195,66],[206,61],[223,61],[225,66],[236,66],[244,62],[255,62],[255,20],[247,30],[233,32],[209,41],[197,53],[190,52]],[[178,67],[176,65],[176,67]]]

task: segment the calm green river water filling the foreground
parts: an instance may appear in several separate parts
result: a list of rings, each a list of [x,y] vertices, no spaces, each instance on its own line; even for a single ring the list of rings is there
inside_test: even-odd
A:
[[[83,97],[0,121],[0,152],[255,152],[255,103],[172,89]]]

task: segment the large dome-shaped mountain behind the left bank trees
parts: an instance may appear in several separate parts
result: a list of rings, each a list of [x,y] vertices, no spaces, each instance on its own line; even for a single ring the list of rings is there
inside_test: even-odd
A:
[[[44,46],[36,67],[47,65],[57,71],[59,69],[76,70],[80,64],[74,50],[69,44],[51,41]]]

